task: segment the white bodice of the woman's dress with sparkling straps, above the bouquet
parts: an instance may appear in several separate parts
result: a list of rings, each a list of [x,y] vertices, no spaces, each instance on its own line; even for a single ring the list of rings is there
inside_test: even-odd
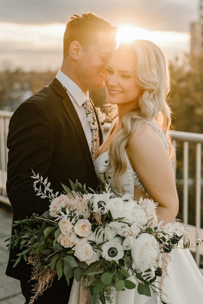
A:
[[[166,141],[166,138],[165,138],[163,132],[154,123],[152,123],[152,121],[145,120],[143,123],[147,123],[150,126],[152,126],[152,128],[159,134],[161,140],[163,141],[163,143],[166,147],[167,153],[169,153],[168,143]],[[113,128],[113,126],[111,128]],[[134,185],[135,185],[138,189],[141,189],[145,193],[147,198],[150,198],[150,195],[147,192],[147,190],[145,189],[144,185],[142,184],[142,181],[140,180],[137,172],[132,169],[126,152],[125,152],[125,156],[126,156],[126,161],[127,161],[127,170],[121,178],[121,184],[123,185],[123,187],[125,189],[125,194],[131,195],[131,197],[133,198],[134,197]],[[97,178],[102,182],[103,182],[103,172],[106,170],[106,167],[105,167],[106,160],[108,160],[108,151],[106,151],[105,153],[103,153],[99,157],[97,157],[97,159],[94,163]]]

